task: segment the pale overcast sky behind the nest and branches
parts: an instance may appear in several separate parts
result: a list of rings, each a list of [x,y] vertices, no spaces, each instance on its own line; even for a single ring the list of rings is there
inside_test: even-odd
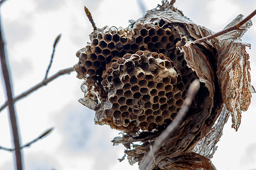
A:
[[[148,9],[161,1],[146,0]],[[89,41],[92,32],[84,6],[92,12],[97,27],[126,28],[129,19],[138,19],[137,1],[120,0],[9,0],[1,6],[7,52],[18,95],[44,78],[55,37],[62,33],[49,76],[77,63],[75,53]],[[255,10],[255,0],[177,0],[179,8],[193,22],[217,32],[238,14]],[[256,18],[243,36],[251,62],[251,82],[256,86]],[[1,81],[0,104],[5,102]],[[22,143],[55,127],[51,135],[23,150],[26,169],[138,169],[127,160],[119,163],[123,146],[110,142],[118,131],[94,125],[94,112],[77,100],[83,96],[82,80],[76,73],[64,75],[16,103]],[[231,118],[224,128],[218,150],[212,159],[217,169],[256,169],[256,97],[242,114],[240,129],[231,129]],[[12,147],[7,109],[0,113],[0,146]],[[0,150],[0,169],[14,169],[13,154]]]

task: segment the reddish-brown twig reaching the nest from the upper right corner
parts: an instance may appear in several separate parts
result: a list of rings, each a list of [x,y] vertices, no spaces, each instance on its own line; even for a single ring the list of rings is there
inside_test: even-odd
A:
[[[203,37],[201,39],[198,39],[198,40],[195,40],[195,44],[197,43],[200,43],[200,42],[205,42],[205,41],[208,41],[210,39],[214,39],[215,37],[217,36],[220,36],[220,35],[223,35],[224,33],[227,33],[227,32],[230,32],[230,31],[233,31],[233,30],[242,30],[240,27],[246,23],[248,20],[250,20],[251,18],[253,18],[253,16],[256,15],[256,10],[254,10],[253,12],[251,12],[250,15],[246,16],[246,18],[244,18],[243,20],[241,20],[240,22],[238,22],[237,24],[233,25],[232,27],[229,27],[229,28],[226,28],[226,29],[223,29],[222,31],[220,32],[216,32],[216,33],[213,33],[212,35],[209,35],[207,37]]]

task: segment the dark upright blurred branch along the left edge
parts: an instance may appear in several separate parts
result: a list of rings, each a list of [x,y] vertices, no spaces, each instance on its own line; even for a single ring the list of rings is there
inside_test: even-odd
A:
[[[1,15],[0,15],[0,19],[1,19]],[[22,167],[22,154],[20,151],[18,122],[17,122],[16,113],[15,113],[15,109],[14,109],[13,88],[12,88],[11,78],[9,75],[9,69],[7,66],[7,55],[5,52],[5,41],[3,40],[2,21],[1,20],[0,20],[0,55],[1,55],[2,74],[3,74],[3,79],[5,80],[7,104],[9,105],[11,131],[13,132],[16,169],[21,170],[21,169],[23,169],[23,167]]]

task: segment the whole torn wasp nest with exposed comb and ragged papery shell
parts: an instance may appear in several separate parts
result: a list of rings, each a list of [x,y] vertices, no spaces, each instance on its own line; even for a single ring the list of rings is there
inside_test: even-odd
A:
[[[189,160],[193,165],[188,169],[214,169],[209,158],[229,113],[237,130],[254,92],[249,55],[240,40],[245,31],[196,44],[193,41],[213,32],[168,1],[125,29],[97,28],[91,42],[76,53],[74,69],[77,78],[85,80],[79,101],[96,111],[96,124],[124,132],[112,142],[127,148],[130,164],[139,162],[141,169],[186,168]],[[143,164],[144,154],[174,120],[195,79],[200,80],[200,90],[183,122],[152,155],[151,164]]]

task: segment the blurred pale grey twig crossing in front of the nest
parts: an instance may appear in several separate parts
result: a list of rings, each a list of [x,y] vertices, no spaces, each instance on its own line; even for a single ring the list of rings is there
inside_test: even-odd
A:
[[[166,130],[164,130],[156,139],[154,145],[150,148],[150,151],[146,155],[146,158],[143,158],[141,165],[147,165],[152,162],[152,160],[155,160],[154,154],[156,151],[159,150],[161,145],[163,144],[164,141],[170,136],[170,134],[181,124],[181,121],[183,120],[183,117],[185,114],[187,114],[188,109],[191,106],[191,103],[197,94],[197,91],[200,88],[200,82],[199,80],[194,80],[191,85],[188,88],[188,94],[187,97],[184,100],[184,105],[181,107],[180,111],[177,113],[177,116],[175,117],[174,121],[171,122],[170,125],[167,126]]]

